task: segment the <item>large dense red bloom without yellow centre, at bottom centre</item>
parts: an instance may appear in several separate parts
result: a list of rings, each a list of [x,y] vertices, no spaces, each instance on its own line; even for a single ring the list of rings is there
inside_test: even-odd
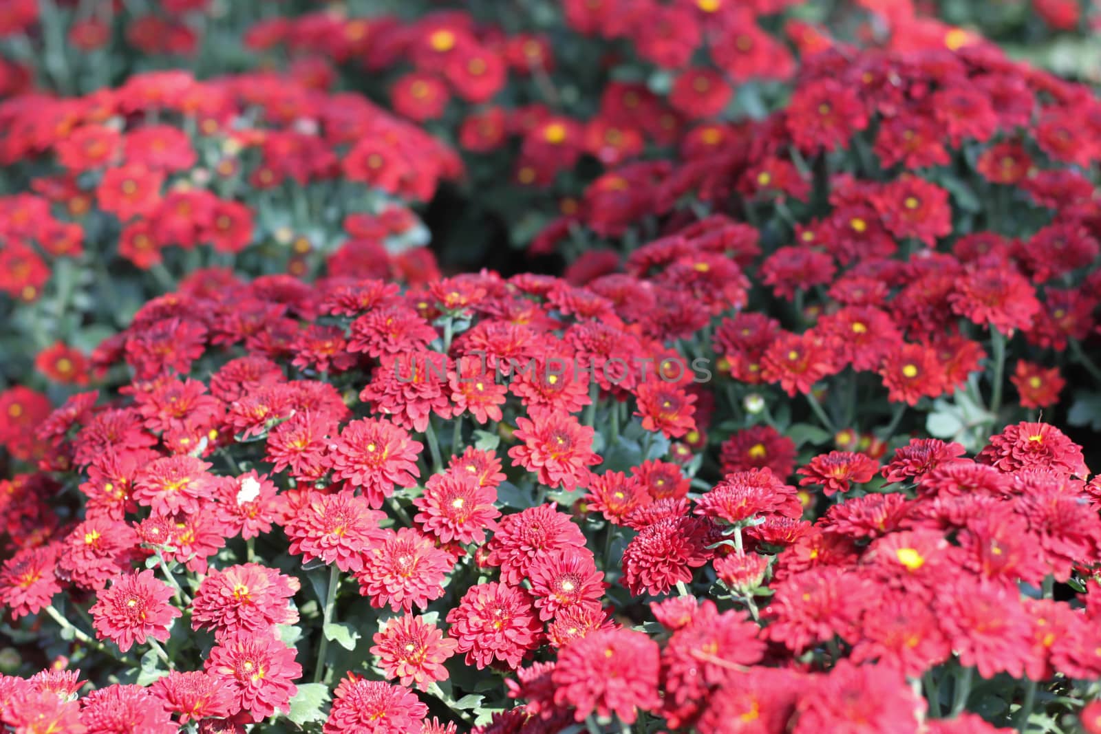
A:
[[[585,721],[596,712],[633,724],[639,710],[661,705],[657,643],[633,629],[593,632],[574,640],[558,654],[550,672],[554,701],[573,708],[574,719]]]

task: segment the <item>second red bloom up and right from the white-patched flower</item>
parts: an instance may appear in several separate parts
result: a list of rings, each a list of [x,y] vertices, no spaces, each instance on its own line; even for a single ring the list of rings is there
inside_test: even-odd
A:
[[[329,446],[334,479],[363,487],[372,507],[381,507],[395,486],[414,486],[424,445],[389,420],[352,420]]]

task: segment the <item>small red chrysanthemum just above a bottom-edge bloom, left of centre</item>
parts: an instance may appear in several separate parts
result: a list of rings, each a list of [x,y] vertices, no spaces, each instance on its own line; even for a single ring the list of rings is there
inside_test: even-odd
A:
[[[458,643],[434,624],[405,614],[391,617],[372,637],[371,654],[378,655],[386,678],[400,678],[406,688],[416,683],[428,690],[429,683],[447,680],[444,661],[455,655]]]

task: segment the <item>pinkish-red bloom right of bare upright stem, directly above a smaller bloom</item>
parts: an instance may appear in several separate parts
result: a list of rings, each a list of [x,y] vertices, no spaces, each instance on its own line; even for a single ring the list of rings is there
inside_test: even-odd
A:
[[[371,605],[397,612],[424,609],[444,595],[444,577],[451,570],[451,557],[427,537],[403,527],[383,530],[381,540],[363,552],[363,568],[356,573],[359,593]]]

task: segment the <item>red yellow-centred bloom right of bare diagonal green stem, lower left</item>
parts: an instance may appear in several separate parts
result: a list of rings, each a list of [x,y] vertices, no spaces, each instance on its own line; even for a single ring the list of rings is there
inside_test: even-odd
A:
[[[151,570],[115,577],[88,610],[96,623],[96,636],[110,639],[123,653],[134,643],[144,645],[146,637],[165,642],[172,621],[182,615],[170,599],[172,587]]]

